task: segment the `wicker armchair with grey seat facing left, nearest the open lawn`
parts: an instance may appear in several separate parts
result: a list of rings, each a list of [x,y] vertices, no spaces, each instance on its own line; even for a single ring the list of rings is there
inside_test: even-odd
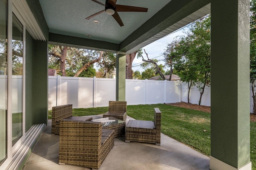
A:
[[[155,143],[161,141],[161,111],[155,108],[154,121],[129,120],[126,125],[125,141]]]

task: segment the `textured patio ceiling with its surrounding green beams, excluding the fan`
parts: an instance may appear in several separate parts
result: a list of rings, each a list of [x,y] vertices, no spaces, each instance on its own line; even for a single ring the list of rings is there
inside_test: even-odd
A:
[[[106,12],[86,20],[105,8],[92,0],[39,2],[50,43],[127,54],[210,13],[210,0],[117,0],[119,5],[148,8],[148,12],[118,12],[124,23],[120,27]],[[93,23],[94,19],[100,23]]]

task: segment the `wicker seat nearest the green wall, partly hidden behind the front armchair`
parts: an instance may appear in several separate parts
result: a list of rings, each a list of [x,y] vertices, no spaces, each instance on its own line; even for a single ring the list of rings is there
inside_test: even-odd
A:
[[[54,106],[52,107],[52,135],[60,133],[60,120],[62,119],[92,120],[92,117],[72,116],[72,104]]]

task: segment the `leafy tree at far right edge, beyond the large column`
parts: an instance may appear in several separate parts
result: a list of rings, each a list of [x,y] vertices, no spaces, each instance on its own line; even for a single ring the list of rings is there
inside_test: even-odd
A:
[[[256,0],[250,1],[250,83],[253,99],[253,114],[256,114]]]

